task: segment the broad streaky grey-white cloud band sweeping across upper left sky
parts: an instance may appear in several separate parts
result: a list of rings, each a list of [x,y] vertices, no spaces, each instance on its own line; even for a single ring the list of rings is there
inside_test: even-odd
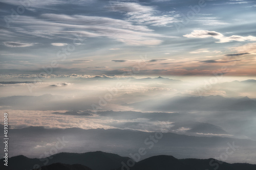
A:
[[[44,37],[74,39],[106,37],[129,45],[158,45],[161,34],[131,21],[101,16],[64,15],[45,13],[40,16],[21,15],[12,27],[18,33]],[[29,30],[27,29],[29,28]]]

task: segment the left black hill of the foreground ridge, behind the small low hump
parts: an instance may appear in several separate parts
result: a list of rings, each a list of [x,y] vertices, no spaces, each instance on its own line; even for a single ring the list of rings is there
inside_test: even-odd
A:
[[[126,162],[128,157],[121,157],[116,154],[105,153],[101,151],[88,152],[88,153],[59,153],[42,159],[31,159],[25,156],[15,156],[9,158],[8,167],[13,170],[34,169],[34,165],[39,166],[49,165],[52,163],[65,163],[65,164],[81,164],[90,167],[93,170],[110,170],[121,166],[121,162]],[[48,162],[49,161],[49,162]],[[3,162],[3,159],[1,159]],[[1,163],[0,168],[5,166]],[[47,166],[48,167],[48,166]],[[46,168],[47,168],[46,167]],[[50,167],[52,169],[53,167]]]

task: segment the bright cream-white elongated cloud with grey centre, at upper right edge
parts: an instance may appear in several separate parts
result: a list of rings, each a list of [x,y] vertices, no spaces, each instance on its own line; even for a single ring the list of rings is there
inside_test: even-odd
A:
[[[254,36],[239,36],[239,35],[232,35],[229,37],[225,37],[223,34],[215,32],[215,31],[206,31],[206,30],[194,30],[190,34],[183,35],[187,38],[208,38],[208,37],[214,37],[218,39],[219,43],[223,42],[230,42],[230,41],[256,41],[256,37]]]

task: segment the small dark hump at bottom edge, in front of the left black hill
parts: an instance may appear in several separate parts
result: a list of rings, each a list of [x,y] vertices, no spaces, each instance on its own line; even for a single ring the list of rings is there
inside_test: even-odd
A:
[[[91,168],[80,165],[80,164],[63,164],[63,163],[53,163],[51,165],[42,166],[41,168],[34,170],[92,170]]]

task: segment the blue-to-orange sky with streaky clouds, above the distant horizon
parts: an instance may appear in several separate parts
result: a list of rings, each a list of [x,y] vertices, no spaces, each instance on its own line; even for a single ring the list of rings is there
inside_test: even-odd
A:
[[[255,76],[254,1],[2,1],[2,74]],[[137,68],[138,69],[138,68]]]

